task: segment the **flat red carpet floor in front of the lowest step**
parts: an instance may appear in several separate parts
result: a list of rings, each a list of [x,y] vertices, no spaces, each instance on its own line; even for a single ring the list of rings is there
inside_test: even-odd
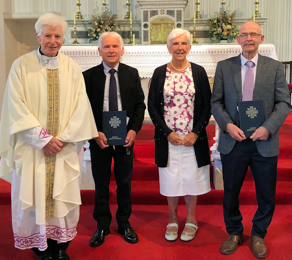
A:
[[[112,213],[117,206],[111,205]],[[196,207],[198,231],[194,240],[184,242],[177,239],[168,242],[164,238],[165,226],[168,221],[168,207],[159,205],[133,205],[130,222],[139,236],[137,244],[125,242],[117,233],[117,223],[113,218],[110,234],[105,243],[97,248],[89,246],[89,239],[95,231],[92,218],[92,206],[81,206],[78,235],[71,242],[68,253],[72,260],[209,260],[209,259],[256,259],[251,252],[250,231],[251,219],[256,206],[244,205],[243,214],[244,243],[232,255],[219,252],[222,241],[226,238],[223,224],[223,213],[220,205],[199,205]],[[1,213],[1,255],[2,260],[36,259],[31,250],[14,248],[10,220],[10,206],[0,206]],[[179,232],[185,220],[185,206],[179,207]],[[292,249],[289,244],[292,226],[292,206],[276,206],[273,221],[265,238],[268,247],[267,260],[291,259]]]

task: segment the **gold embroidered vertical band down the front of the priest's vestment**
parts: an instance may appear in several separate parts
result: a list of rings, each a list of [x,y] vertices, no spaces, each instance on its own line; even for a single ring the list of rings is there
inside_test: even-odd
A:
[[[57,136],[59,129],[59,73],[58,69],[47,69],[48,116],[46,132]],[[46,219],[54,216],[53,199],[56,155],[45,157],[46,164]]]

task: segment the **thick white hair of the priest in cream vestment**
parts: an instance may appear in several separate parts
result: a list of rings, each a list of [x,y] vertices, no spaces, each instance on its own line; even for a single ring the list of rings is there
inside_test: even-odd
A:
[[[52,26],[52,27],[61,26],[63,35],[65,35],[68,24],[65,21],[64,17],[57,16],[52,13],[45,13],[41,15],[39,19],[37,20],[37,22],[35,23],[34,28],[37,34],[42,34],[44,26]]]

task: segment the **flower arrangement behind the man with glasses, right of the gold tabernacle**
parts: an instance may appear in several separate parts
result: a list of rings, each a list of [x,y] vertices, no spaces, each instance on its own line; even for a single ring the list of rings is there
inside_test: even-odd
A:
[[[209,20],[209,37],[211,40],[228,40],[232,42],[238,36],[238,27],[234,24],[236,11],[230,14],[229,6],[227,10],[220,8],[219,13],[215,13],[214,17]]]

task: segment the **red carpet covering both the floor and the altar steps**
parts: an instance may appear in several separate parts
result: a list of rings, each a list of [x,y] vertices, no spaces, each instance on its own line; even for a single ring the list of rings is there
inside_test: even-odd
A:
[[[168,221],[166,198],[159,193],[158,169],[154,164],[153,126],[144,125],[137,135],[134,147],[134,169],[132,176],[132,215],[131,225],[139,236],[137,244],[125,242],[117,233],[115,211],[115,182],[110,185],[111,210],[113,221],[106,242],[97,248],[89,246],[89,239],[96,229],[92,217],[94,191],[82,191],[80,222],[78,235],[71,242],[68,253],[72,260],[172,260],[172,259],[256,259],[251,253],[250,230],[252,216],[256,210],[254,184],[248,172],[242,188],[240,201],[243,215],[244,243],[232,255],[219,252],[226,231],[222,213],[223,191],[213,189],[198,197],[196,220],[198,231],[194,240],[183,242],[178,239],[168,242],[164,238]],[[207,127],[209,145],[213,144],[214,126]],[[265,238],[268,256],[265,259],[292,259],[289,240],[292,233],[292,113],[281,127],[280,154],[278,156],[278,177],[276,190],[276,210]],[[210,165],[212,179],[212,165]],[[36,259],[31,250],[14,247],[10,185],[0,179],[0,259]],[[179,232],[184,226],[186,209],[183,200],[179,207]]]

